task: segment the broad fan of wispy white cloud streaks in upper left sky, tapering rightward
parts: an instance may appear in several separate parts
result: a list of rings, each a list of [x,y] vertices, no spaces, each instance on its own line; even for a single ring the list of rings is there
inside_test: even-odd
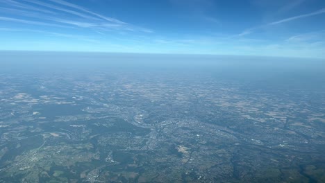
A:
[[[140,33],[153,32],[149,28],[142,28],[120,21],[119,19],[106,17],[63,0],[49,0],[47,2],[38,0],[22,0],[20,2],[15,0],[0,0],[0,2],[3,2],[2,5],[0,4],[0,8],[5,10],[6,14],[12,14],[12,17],[1,17],[0,20],[2,21],[13,21],[39,26],[90,28],[95,32],[98,30],[121,30]],[[27,17],[33,17],[33,19],[28,19]]]

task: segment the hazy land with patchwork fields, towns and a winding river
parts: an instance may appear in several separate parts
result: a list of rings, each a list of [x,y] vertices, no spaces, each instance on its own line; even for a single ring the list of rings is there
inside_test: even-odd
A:
[[[0,182],[325,182],[310,74],[3,72]]]

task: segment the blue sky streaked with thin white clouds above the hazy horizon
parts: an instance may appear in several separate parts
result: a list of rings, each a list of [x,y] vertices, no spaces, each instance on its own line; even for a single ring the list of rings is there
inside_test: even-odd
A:
[[[325,58],[324,0],[0,0],[0,50]]]

